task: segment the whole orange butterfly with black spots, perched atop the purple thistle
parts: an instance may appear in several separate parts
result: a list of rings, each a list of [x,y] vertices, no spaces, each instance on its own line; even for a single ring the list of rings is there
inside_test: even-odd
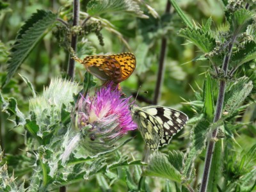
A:
[[[86,70],[102,81],[118,84],[131,76],[136,67],[136,58],[131,52],[111,55],[86,56],[84,60],[74,57]]]

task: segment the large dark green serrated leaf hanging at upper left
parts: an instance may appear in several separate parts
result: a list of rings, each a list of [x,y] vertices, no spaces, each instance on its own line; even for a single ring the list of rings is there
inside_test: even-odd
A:
[[[19,31],[15,44],[11,49],[10,60],[8,60],[8,75],[3,84],[7,84],[17,71],[17,68],[28,57],[35,45],[46,35],[47,29],[51,28],[57,15],[44,10],[34,13]]]

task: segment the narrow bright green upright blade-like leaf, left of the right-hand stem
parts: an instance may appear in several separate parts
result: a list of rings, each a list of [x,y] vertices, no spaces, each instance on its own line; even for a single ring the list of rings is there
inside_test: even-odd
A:
[[[212,122],[212,117],[214,113],[214,101],[212,93],[212,81],[211,76],[208,75],[204,83],[204,113],[209,122]]]

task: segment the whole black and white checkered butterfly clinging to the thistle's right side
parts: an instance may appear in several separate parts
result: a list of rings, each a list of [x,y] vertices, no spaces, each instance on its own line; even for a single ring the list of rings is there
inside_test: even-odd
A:
[[[181,111],[163,106],[131,106],[132,118],[137,123],[145,143],[151,150],[157,150],[170,143],[188,122],[188,116]]]

